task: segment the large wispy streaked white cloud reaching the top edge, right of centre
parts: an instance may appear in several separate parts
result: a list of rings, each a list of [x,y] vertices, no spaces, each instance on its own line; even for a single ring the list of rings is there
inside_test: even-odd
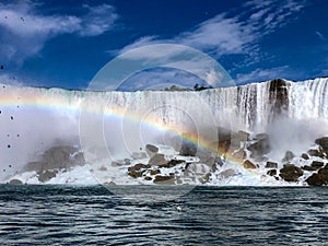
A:
[[[218,14],[172,39],[145,36],[126,46],[121,52],[143,45],[174,43],[188,45],[214,56],[239,54],[251,56],[253,60],[258,61],[258,56],[261,56],[258,45],[260,39],[291,22],[292,16],[304,5],[305,1],[296,0],[247,1],[241,8],[239,14]]]

